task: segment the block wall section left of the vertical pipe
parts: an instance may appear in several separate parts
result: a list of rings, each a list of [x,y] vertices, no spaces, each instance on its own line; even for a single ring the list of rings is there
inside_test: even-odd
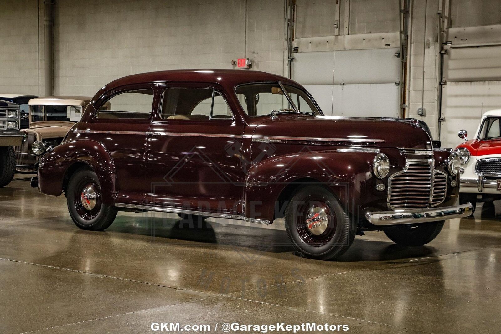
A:
[[[39,94],[37,1],[0,1],[0,94]]]

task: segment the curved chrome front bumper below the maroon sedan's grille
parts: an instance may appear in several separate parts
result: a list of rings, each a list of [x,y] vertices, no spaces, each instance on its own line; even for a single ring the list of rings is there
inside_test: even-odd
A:
[[[365,218],[374,225],[418,224],[430,221],[463,218],[473,213],[471,203],[441,208],[367,212]]]

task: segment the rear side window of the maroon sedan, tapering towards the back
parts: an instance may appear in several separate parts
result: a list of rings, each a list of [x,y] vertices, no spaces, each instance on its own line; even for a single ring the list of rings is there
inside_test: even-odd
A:
[[[104,119],[150,118],[153,108],[153,90],[141,89],[123,92],[111,97],[96,114]]]

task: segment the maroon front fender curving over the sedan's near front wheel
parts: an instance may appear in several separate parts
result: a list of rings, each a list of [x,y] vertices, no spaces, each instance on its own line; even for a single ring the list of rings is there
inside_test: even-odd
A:
[[[245,180],[245,216],[272,221],[280,207],[280,194],[291,183],[321,183],[331,189],[349,212],[354,213],[367,188],[374,188],[372,162],[376,152],[308,151],[275,156],[253,165]],[[292,194],[286,194],[289,198]]]

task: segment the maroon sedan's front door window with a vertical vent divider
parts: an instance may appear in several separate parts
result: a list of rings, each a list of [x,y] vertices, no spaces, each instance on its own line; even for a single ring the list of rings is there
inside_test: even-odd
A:
[[[208,121],[232,119],[224,98],[210,88],[167,88],[161,118],[169,120]]]

